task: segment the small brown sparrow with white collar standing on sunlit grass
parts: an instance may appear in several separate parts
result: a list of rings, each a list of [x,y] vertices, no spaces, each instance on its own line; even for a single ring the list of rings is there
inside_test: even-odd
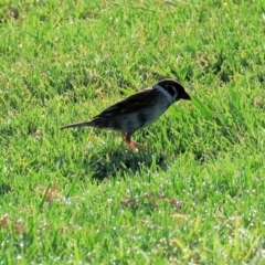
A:
[[[131,135],[157,120],[168,107],[179,99],[191,100],[184,87],[177,81],[165,78],[152,87],[140,91],[126,99],[114,104],[89,121],[81,121],[60,127],[91,126],[120,131],[126,144],[132,150],[138,150],[135,145],[146,147],[131,140]]]

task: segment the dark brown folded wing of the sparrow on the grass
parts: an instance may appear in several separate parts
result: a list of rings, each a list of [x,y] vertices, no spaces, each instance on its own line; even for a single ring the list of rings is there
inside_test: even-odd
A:
[[[157,97],[157,91],[148,88],[141,92],[138,92],[126,99],[114,104],[113,106],[103,110],[97,117],[109,117],[121,114],[134,113],[141,108],[147,107],[151,104],[151,102]]]

